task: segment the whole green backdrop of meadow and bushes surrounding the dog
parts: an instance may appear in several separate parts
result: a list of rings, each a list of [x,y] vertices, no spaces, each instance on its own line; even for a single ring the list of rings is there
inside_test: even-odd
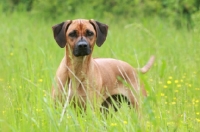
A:
[[[52,105],[51,87],[65,51],[51,27],[77,18],[109,26],[94,58],[138,68],[156,56],[139,75],[148,92],[140,120],[126,108],[110,120],[92,112],[77,117],[69,108],[58,125],[61,109]],[[200,0],[0,0],[0,132],[199,131],[199,25]]]

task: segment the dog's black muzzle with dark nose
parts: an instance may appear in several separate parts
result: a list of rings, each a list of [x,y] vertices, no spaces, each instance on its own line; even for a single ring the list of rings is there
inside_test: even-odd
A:
[[[74,56],[85,56],[91,53],[90,45],[85,40],[80,40],[76,43],[74,47],[73,54]]]

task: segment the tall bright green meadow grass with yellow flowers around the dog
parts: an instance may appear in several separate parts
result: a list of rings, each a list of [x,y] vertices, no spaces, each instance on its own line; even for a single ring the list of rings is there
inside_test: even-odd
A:
[[[74,18],[74,17],[73,17]],[[94,57],[112,57],[133,67],[156,56],[140,78],[148,97],[138,114],[123,106],[107,118],[87,109],[78,115],[55,109],[51,85],[64,55],[51,26],[65,20],[43,20],[29,14],[0,16],[0,131],[198,131],[200,129],[200,28],[176,29],[159,18],[110,22],[109,34]],[[198,25],[198,24],[197,24]]]

